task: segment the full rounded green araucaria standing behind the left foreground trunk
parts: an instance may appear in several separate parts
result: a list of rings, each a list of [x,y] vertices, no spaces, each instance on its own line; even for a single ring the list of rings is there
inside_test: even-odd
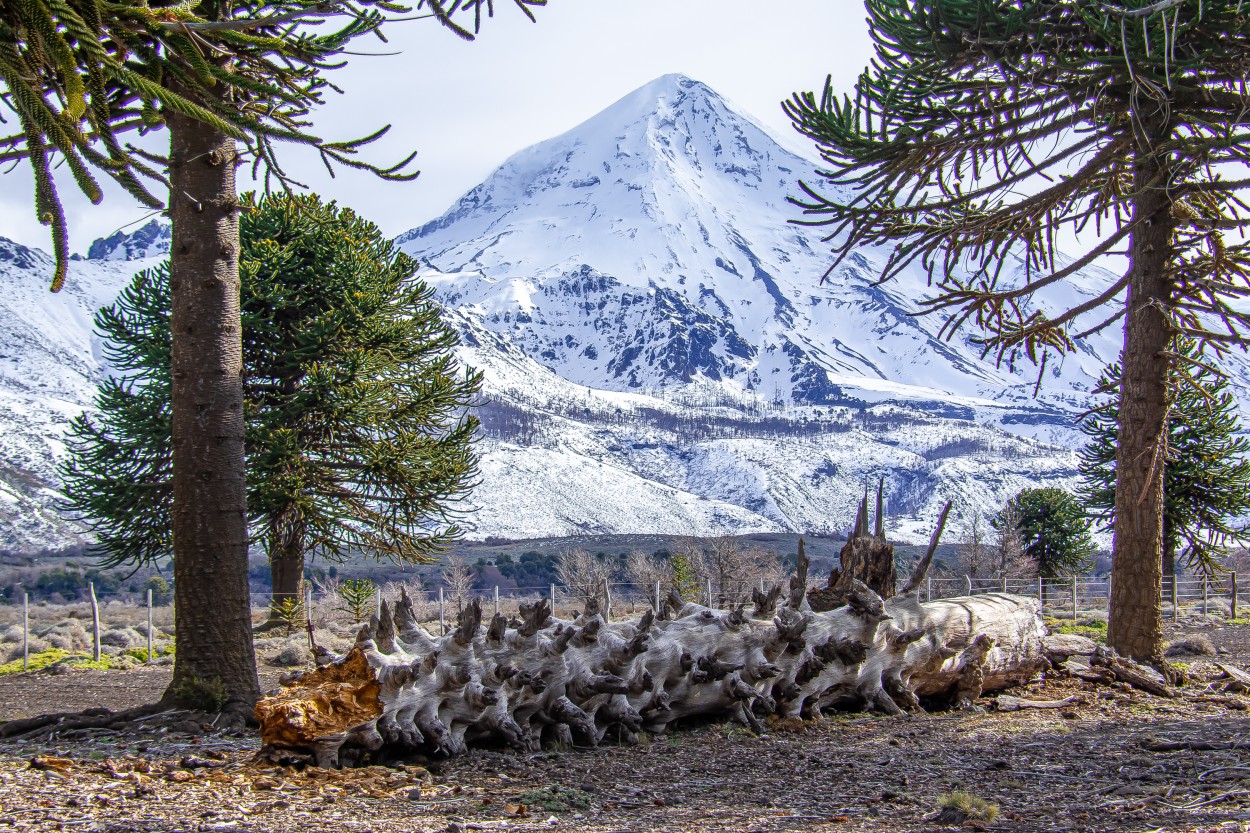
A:
[[[248,508],[274,600],[298,598],[309,553],[432,560],[476,473],[480,375],[415,261],[311,195],[245,198],[240,239]],[[118,564],[171,552],[169,274],[140,273],[96,316],[116,373],[62,468]]]

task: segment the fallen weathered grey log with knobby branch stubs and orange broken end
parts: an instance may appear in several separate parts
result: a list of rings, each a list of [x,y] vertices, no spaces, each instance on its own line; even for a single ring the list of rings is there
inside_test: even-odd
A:
[[[965,707],[1048,667],[1035,599],[920,603],[914,575],[891,599],[852,580],[844,605],[816,613],[805,560],[789,593],[761,593],[751,610],[678,598],[666,620],[649,610],[609,623],[598,607],[561,620],[544,600],[484,627],[475,602],[455,630],[432,637],[405,595],[381,607],[346,657],[261,700],[261,735],[270,752],[339,765],[482,743],[630,742],[694,717],[761,732],[770,714]]]

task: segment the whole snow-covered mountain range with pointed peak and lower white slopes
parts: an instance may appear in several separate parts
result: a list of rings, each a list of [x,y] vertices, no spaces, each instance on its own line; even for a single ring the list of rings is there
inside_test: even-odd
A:
[[[911,315],[919,271],[875,285],[882,251],[821,283],[825,246],[786,203],[814,166],[665,76],[400,236],[486,375],[472,537],[836,532],[884,477],[891,529],[916,539],[946,499],[958,535],[1021,488],[1074,485],[1072,419],[1118,334],[1051,363],[1035,399],[1034,368]],[[156,224],[96,241],[51,295],[50,258],[0,240],[0,549],[81,539],[55,462],[108,373],[91,315],[168,248]]]

